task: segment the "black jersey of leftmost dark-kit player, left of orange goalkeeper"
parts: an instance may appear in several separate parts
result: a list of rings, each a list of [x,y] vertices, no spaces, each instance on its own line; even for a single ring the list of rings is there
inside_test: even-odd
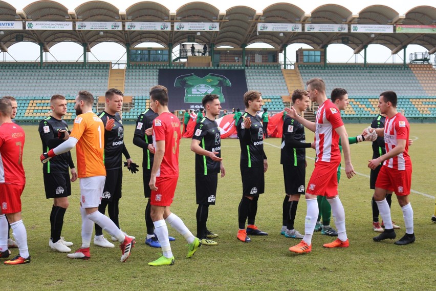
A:
[[[62,119],[56,119],[48,116],[39,122],[39,136],[42,141],[42,152],[47,153],[49,150],[56,148],[65,140],[58,138],[59,130],[68,131],[68,124]],[[50,173],[68,173],[68,168],[74,168],[71,153],[63,153],[51,158],[47,163],[42,165],[42,171],[45,174]]]

